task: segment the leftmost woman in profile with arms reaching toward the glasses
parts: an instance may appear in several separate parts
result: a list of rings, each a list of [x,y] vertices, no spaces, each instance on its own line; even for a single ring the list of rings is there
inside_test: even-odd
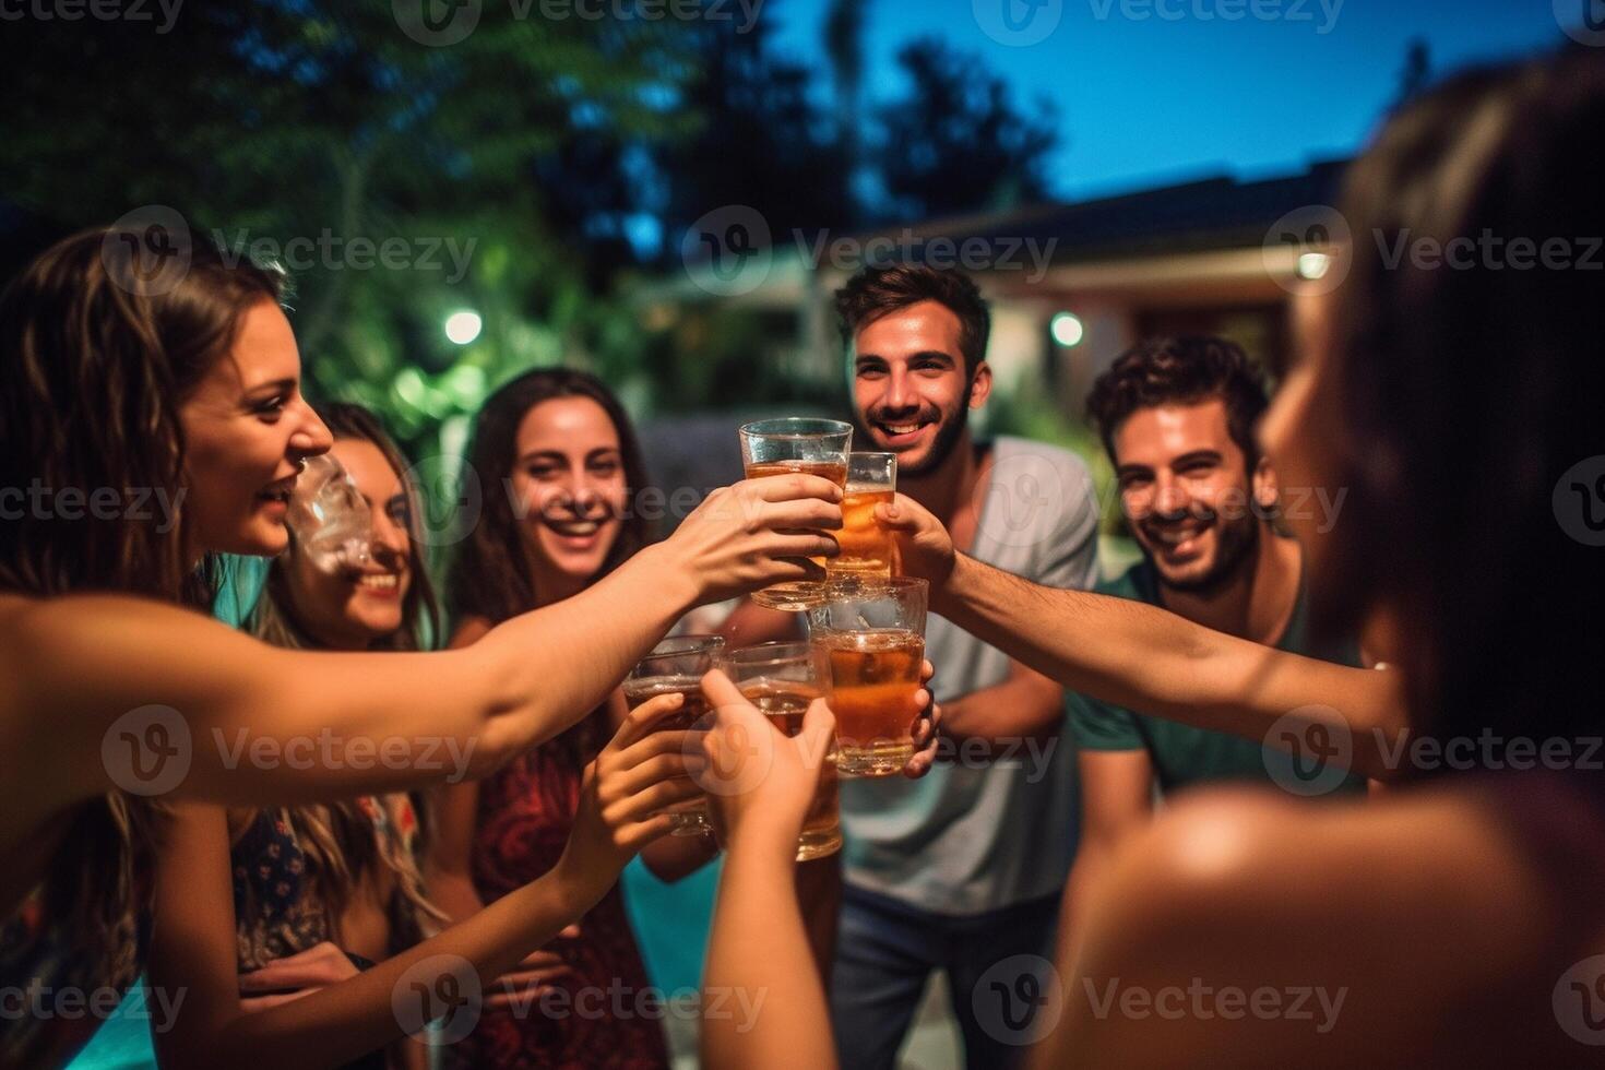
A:
[[[823,480],[753,480],[716,492],[605,581],[507,621],[472,650],[268,646],[177,603],[205,603],[209,555],[284,549],[289,491],[329,432],[302,399],[274,278],[188,241],[183,270],[151,286],[128,261],[144,237],[63,241],[0,297],[0,496],[29,497],[0,523],[0,754],[22,759],[0,781],[8,983],[120,990],[141,964],[156,821],[122,794],[141,784],[109,760],[119,741],[165,741],[143,756],[173,773],[164,800],[295,804],[438,781],[448,770],[412,762],[441,741],[470,749],[472,772],[486,772],[594,709],[693,605],[812,574],[801,558],[828,555],[833,541],[778,531],[841,518],[839,491]],[[173,504],[172,523],[151,521],[152,497]],[[119,732],[125,715],[159,727],[160,740]],[[401,741],[406,760],[238,762],[213,732],[244,732],[279,754],[329,733],[369,754]],[[189,746],[173,751],[175,740]],[[443,934],[433,951],[499,974],[661,834],[661,821],[642,820],[655,810],[650,792],[618,780],[624,751],[608,751],[586,783],[570,863]],[[416,961],[417,951],[396,956],[342,987],[332,1056],[396,1033],[388,999],[374,996]],[[0,1062],[53,1065],[82,1043],[83,1023],[5,1015]]]

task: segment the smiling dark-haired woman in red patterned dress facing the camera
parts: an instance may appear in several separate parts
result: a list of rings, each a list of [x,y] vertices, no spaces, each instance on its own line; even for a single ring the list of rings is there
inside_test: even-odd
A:
[[[448,578],[456,646],[514,614],[579,594],[652,539],[652,525],[636,509],[647,470],[634,427],[594,375],[536,369],[501,387],[475,419],[469,464],[488,492],[485,517]],[[427,873],[443,910],[472,916],[555,863],[579,773],[621,717],[613,695],[488,780],[437,791]],[[711,847],[664,839],[647,860],[660,874],[679,876],[711,857]],[[528,985],[525,1012],[504,1006],[510,998],[488,1006],[473,1035],[448,1052],[453,1065],[668,1065],[650,1017],[616,1017],[605,1003],[600,1015],[549,1019],[533,1003],[542,987],[565,987],[570,996],[623,987],[631,1006],[647,990],[621,889],[608,890],[571,935],[533,954],[512,980]]]

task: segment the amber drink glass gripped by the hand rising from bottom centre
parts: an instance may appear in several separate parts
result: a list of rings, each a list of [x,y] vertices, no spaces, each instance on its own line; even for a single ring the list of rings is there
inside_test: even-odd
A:
[[[802,733],[802,714],[809,703],[825,695],[825,666],[812,643],[758,643],[738,646],[719,656],[719,667],[786,736]],[[830,756],[819,772],[814,802],[802,820],[798,837],[798,861],[823,858],[841,850],[841,805],[836,792],[836,767]]]

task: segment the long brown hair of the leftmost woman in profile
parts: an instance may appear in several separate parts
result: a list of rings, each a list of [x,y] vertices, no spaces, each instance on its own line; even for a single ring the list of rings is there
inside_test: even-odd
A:
[[[196,608],[210,597],[213,563],[186,558],[178,407],[228,353],[246,311],[279,298],[279,279],[173,233],[162,249],[181,260],[141,274],[135,260],[149,239],[83,231],[0,295],[0,492],[122,496],[116,510],[24,509],[0,523],[0,589],[119,590]],[[165,529],[151,520],[156,494],[172,505]],[[40,889],[51,924],[108,971],[135,964],[132,916],[159,813],[120,792],[82,807]]]

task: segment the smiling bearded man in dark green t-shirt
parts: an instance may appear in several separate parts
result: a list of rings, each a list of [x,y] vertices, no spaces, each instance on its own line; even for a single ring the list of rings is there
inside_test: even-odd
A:
[[[1220,632],[1358,666],[1353,642],[1313,645],[1306,634],[1303,555],[1278,533],[1278,484],[1254,440],[1270,404],[1258,367],[1233,342],[1162,337],[1115,359],[1093,383],[1087,412],[1099,428],[1120,509],[1143,560],[1103,594],[1157,605]],[[1080,892],[1127,834],[1170,794],[1201,781],[1273,776],[1250,740],[1194,728],[1071,693],[1080,749],[1082,842],[1066,887],[1066,934]],[[1282,770],[1278,768],[1278,773]],[[1350,776],[1342,784],[1359,789]]]

